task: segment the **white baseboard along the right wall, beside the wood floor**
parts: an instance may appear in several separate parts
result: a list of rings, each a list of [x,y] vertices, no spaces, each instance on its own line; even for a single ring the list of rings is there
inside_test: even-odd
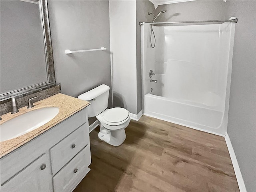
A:
[[[234,168],[234,171],[235,171],[235,174],[236,174],[236,180],[238,182],[239,190],[240,190],[240,192],[246,192],[244,179],[242,177],[242,173],[240,171],[238,161],[236,159],[236,154],[235,154],[235,151],[233,149],[231,140],[230,140],[227,132],[225,134],[225,141],[226,141],[226,144],[227,144],[227,147],[228,147],[228,152],[229,152],[229,155],[230,155],[230,158],[231,158],[231,161],[232,161],[232,164],[233,164],[233,168]]]

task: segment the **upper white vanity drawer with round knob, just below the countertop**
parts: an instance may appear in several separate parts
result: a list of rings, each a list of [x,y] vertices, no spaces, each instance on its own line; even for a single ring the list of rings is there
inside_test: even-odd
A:
[[[52,174],[55,175],[88,143],[89,130],[87,124],[84,124],[51,148]]]

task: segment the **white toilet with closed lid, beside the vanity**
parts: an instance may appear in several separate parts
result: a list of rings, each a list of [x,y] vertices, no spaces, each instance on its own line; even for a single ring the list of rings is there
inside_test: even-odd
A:
[[[95,117],[100,122],[98,137],[113,146],[120,146],[126,134],[124,129],[130,123],[130,112],[124,108],[108,107],[109,86],[103,84],[84,94],[78,99],[91,102],[88,106],[88,117]]]

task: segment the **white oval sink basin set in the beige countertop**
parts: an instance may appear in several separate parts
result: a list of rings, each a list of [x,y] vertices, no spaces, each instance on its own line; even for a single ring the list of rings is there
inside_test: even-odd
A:
[[[52,120],[58,113],[57,107],[36,109],[17,116],[0,126],[0,141],[24,135]]]

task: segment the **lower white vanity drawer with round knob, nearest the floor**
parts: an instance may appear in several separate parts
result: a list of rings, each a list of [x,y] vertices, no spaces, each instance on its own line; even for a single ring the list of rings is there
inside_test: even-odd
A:
[[[89,172],[91,163],[90,145],[78,153],[53,177],[54,191],[72,191]]]

